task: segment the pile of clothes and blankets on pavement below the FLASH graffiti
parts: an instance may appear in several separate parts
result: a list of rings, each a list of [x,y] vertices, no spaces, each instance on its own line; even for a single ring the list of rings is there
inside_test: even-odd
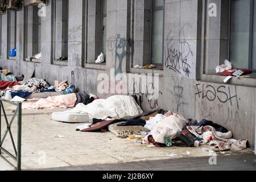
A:
[[[174,146],[197,147],[201,143],[221,151],[247,147],[247,139],[233,139],[232,132],[221,125],[206,119],[200,122],[186,119],[171,111],[151,117],[144,127],[151,130],[144,140],[157,147],[166,146],[166,139],[171,139]]]

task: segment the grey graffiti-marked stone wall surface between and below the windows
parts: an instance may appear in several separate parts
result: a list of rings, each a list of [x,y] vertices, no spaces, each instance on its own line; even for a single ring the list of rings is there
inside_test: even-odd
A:
[[[6,49],[6,21],[7,16],[2,15],[2,55],[1,67],[10,69],[15,75],[26,73],[27,69],[35,68],[35,76],[46,78],[51,84],[54,80],[68,79],[71,81],[71,71],[74,71],[73,83],[80,89],[89,93],[98,93],[97,86],[102,80],[98,80],[100,73],[106,73],[109,77],[118,73],[134,73],[131,64],[148,63],[148,32],[145,27],[148,24],[150,12],[147,1],[135,0],[109,0],[108,1],[108,26],[106,65],[90,65],[93,63],[96,52],[95,43],[95,19],[93,7],[88,10],[88,44],[85,44],[83,23],[85,20],[84,3],[82,0],[69,1],[69,44],[68,64],[55,65],[52,60],[52,23],[51,0],[47,5],[47,16],[42,18],[42,60],[40,63],[24,61],[23,50],[23,10],[17,12],[17,39],[18,59],[8,60]],[[89,0],[93,5],[94,0]],[[149,2],[149,1],[148,1]],[[207,1],[208,2],[208,1]],[[225,1],[214,1],[221,7]],[[254,143],[256,89],[255,86],[240,86],[236,84],[217,84],[215,81],[200,81],[197,77],[203,73],[200,65],[201,34],[200,12],[201,1],[166,0],[164,17],[164,64],[159,77],[159,89],[154,82],[147,82],[148,92],[159,94],[158,100],[148,100],[149,94],[143,93],[143,109],[152,110],[163,108],[183,114],[185,117],[210,119],[213,122],[224,125],[232,130],[234,137],[247,138],[250,144]],[[95,4],[95,3],[94,3]],[[95,7],[94,7],[95,8]],[[133,10],[134,9],[134,10]],[[207,49],[205,56],[207,61],[205,68],[211,71],[216,64],[223,61],[226,49],[220,48],[228,40],[221,31],[223,19],[222,11],[218,11],[216,19],[210,19],[207,24]],[[134,22],[134,23],[132,23]],[[142,23],[140,23],[142,22]],[[217,23],[217,26],[213,24]],[[218,26],[220,24],[220,26]],[[225,24],[225,22],[224,22]],[[90,28],[89,28],[90,27]],[[217,32],[217,33],[216,33]],[[222,34],[220,34],[222,32]],[[133,45],[135,50],[133,50]],[[212,47],[210,47],[212,45]],[[84,56],[84,48],[87,47],[87,56]],[[217,46],[217,47],[216,47]],[[84,57],[83,57],[84,56]],[[86,58],[85,58],[86,57]],[[218,60],[220,59],[220,60]],[[111,71],[112,69],[112,71]],[[146,71],[139,70],[138,73]],[[147,71],[148,72],[148,71]],[[153,71],[150,73],[154,73]],[[137,76],[135,76],[137,77]],[[101,78],[100,78],[101,79]],[[253,78],[252,78],[253,79]],[[106,79],[111,83],[111,80]],[[216,81],[218,82],[218,81]],[[141,84],[138,84],[141,85]],[[128,92],[134,93],[134,87],[139,86],[127,82]],[[140,89],[138,89],[141,92]],[[108,97],[112,94],[99,94],[100,97]]]

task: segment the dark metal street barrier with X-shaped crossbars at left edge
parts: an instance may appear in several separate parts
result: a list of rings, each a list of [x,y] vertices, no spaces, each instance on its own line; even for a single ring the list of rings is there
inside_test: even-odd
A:
[[[3,102],[7,102],[8,104],[15,105],[16,110],[11,118],[11,121],[9,122],[7,119],[7,115],[5,112],[5,107],[3,106]],[[3,112],[3,117],[5,118],[6,122],[6,130],[3,132],[3,135],[1,134],[2,130],[2,112]],[[11,102],[11,101],[6,101],[0,98],[0,156],[2,158],[6,159],[3,155],[2,152],[5,152],[5,154],[9,155],[10,158],[13,158],[16,161],[16,169],[18,171],[21,170],[21,142],[22,142],[22,102]],[[11,125],[14,122],[15,117],[18,115],[18,135],[17,135],[17,147],[15,146],[14,139],[13,139],[13,134],[11,133]],[[11,143],[13,144],[14,152],[15,155],[11,154],[11,152],[7,151],[5,148],[3,148],[3,142],[6,139],[7,134],[10,134],[11,138]]]

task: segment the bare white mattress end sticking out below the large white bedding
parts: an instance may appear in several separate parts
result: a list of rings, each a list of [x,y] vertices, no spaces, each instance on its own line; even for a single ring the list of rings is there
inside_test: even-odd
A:
[[[89,115],[77,113],[55,112],[52,120],[67,123],[89,123]]]

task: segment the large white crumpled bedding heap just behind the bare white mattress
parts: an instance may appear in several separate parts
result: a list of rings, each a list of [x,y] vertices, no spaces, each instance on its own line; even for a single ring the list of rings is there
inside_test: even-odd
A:
[[[93,118],[106,119],[108,117],[121,119],[126,116],[142,114],[141,107],[130,96],[111,96],[106,99],[98,99],[88,105],[77,104],[74,109],[65,111],[67,113],[88,114],[89,121]]]

